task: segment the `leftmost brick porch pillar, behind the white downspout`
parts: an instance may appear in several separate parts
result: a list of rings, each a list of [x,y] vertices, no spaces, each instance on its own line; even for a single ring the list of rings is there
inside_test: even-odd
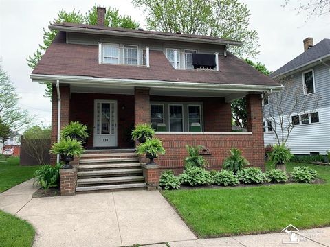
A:
[[[58,99],[56,86],[53,85],[52,92],[52,134],[50,137],[51,143],[57,141],[57,124],[58,124]],[[61,94],[61,128],[69,124],[70,116],[70,88],[69,86],[60,86]],[[56,164],[56,155],[50,156],[50,164]]]

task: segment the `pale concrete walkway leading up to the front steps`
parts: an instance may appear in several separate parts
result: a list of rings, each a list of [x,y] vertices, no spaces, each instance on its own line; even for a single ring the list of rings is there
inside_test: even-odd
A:
[[[0,209],[32,223],[34,246],[131,246],[196,239],[159,191],[31,198],[32,180],[0,194]]]

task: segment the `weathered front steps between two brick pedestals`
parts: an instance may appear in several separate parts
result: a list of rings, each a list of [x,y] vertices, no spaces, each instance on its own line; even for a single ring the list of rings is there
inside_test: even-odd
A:
[[[76,192],[146,189],[133,149],[86,150],[80,157]]]

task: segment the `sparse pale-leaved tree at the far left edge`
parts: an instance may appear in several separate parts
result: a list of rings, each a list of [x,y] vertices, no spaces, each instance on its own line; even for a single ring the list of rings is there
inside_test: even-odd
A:
[[[14,85],[0,63],[0,137],[8,139],[10,132],[18,132],[28,126],[32,118],[27,110],[19,108],[19,97]]]

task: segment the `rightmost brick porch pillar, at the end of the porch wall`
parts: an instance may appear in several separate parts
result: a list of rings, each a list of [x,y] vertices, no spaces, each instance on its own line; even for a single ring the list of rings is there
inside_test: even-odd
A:
[[[246,96],[248,111],[248,131],[252,132],[252,161],[251,165],[265,169],[265,148],[263,143],[263,108],[261,94]]]

